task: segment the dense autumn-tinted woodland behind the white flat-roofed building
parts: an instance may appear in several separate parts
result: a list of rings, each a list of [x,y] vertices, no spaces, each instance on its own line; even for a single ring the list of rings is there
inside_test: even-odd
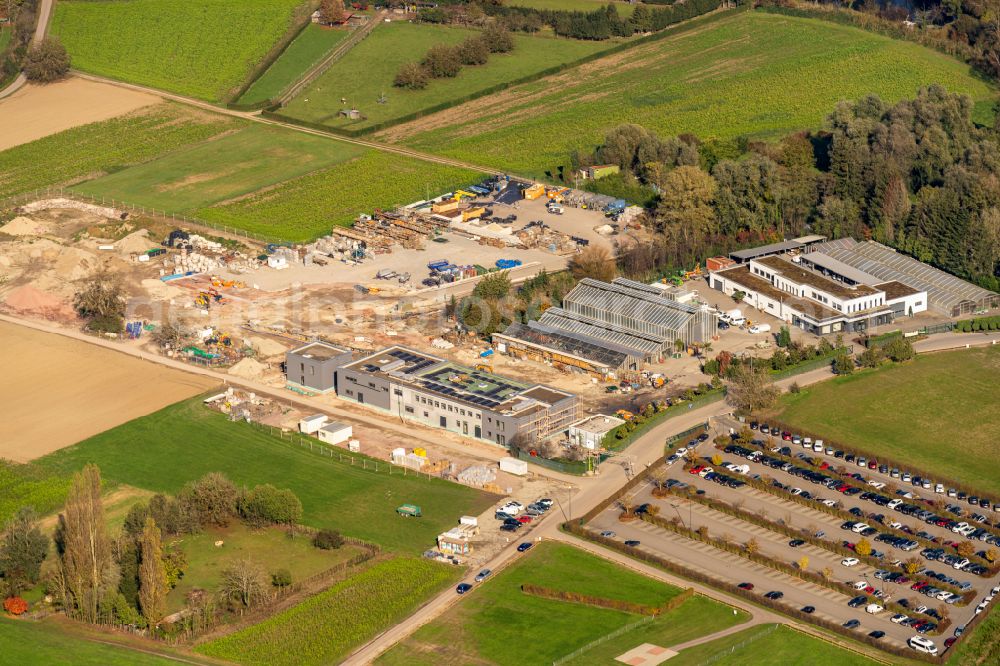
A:
[[[806,232],[873,239],[987,289],[1000,289],[1000,151],[973,102],[940,86],[887,104],[841,102],[821,131],[730,150],[625,125],[574,170],[617,164],[656,192],[650,243],[622,247],[631,275],[695,265],[736,247]]]

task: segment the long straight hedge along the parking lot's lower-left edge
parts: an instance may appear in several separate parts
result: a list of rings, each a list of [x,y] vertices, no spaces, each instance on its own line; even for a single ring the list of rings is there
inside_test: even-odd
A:
[[[882,643],[877,639],[871,638],[870,636],[865,636],[855,631],[851,631],[850,629],[847,629],[845,627],[842,627],[836,622],[830,622],[829,620],[824,620],[822,618],[816,617],[815,615],[809,615],[807,613],[803,613],[797,608],[791,608],[784,604],[780,604],[777,601],[772,601],[771,599],[767,599],[766,597],[759,594],[755,594],[751,591],[741,590],[735,584],[730,583],[728,581],[719,580],[718,578],[710,576],[704,573],[703,571],[692,569],[683,564],[679,564],[677,562],[659,557],[652,553],[637,550],[635,548],[629,548],[621,541],[615,541],[614,539],[607,539],[581,525],[569,522],[569,523],[563,523],[562,527],[564,530],[570,532],[571,534],[575,534],[576,536],[579,536],[593,543],[600,544],[606,548],[616,550],[620,553],[628,555],[637,560],[647,562],[669,573],[681,576],[683,578],[686,578],[688,580],[697,583],[709,585],[718,590],[722,590],[723,592],[726,592],[731,596],[745,599],[746,601],[749,601],[758,606],[763,606],[764,608],[769,608],[777,613],[781,613],[782,615],[792,617],[797,620],[801,620],[804,623],[822,627],[827,631],[833,632],[840,636],[844,636],[845,638],[848,638],[852,641],[864,643],[865,645],[876,648],[883,652],[887,652],[889,654],[898,657],[903,657],[910,661],[923,661],[929,664],[940,664],[943,663],[944,661],[942,657],[932,657],[930,655],[914,652],[913,650],[905,648],[897,648]]]

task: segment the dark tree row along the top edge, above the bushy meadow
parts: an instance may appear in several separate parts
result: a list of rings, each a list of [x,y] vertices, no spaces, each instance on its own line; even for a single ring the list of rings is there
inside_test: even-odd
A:
[[[613,37],[631,37],[637,33],[659,32],[695,16],[717,9],[720,0],[686,0],[672,4],[659,2],[663,7],[653,8],[641,3],[631,16],[621,16],[614,4],[590,12],[536,9],[508,6],[502,2],[472,0],[423,9],[418,19],[431,23],[460,23],[476,25],[486,17],[503,21],[510,30],[533,33],[548,26],[561,37],[586,40],[606,40]]]

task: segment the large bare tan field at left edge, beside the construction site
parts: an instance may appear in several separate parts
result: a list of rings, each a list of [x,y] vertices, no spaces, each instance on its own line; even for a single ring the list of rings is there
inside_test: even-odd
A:
[[[6,322],[0,322],[0,368],[0,458],[17,462],[218,385],[208,377]]]

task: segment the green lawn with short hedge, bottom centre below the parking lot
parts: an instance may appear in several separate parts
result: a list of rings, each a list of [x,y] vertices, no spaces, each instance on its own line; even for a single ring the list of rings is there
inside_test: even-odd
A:
[[[377,663],[541,664],[551,663],[588,642],[631,624],[639,616],[583,604],[528,596],[524,583],[643,604],[657,604],[680,590],[618,567],[571,546],[542,543],[495,579],[487,580],[458,606],[384,654]],[[654,622],[605,645],[578,663],[606,663],[655,637],[678,643],[746,621],[721,604],[694,597]]]

